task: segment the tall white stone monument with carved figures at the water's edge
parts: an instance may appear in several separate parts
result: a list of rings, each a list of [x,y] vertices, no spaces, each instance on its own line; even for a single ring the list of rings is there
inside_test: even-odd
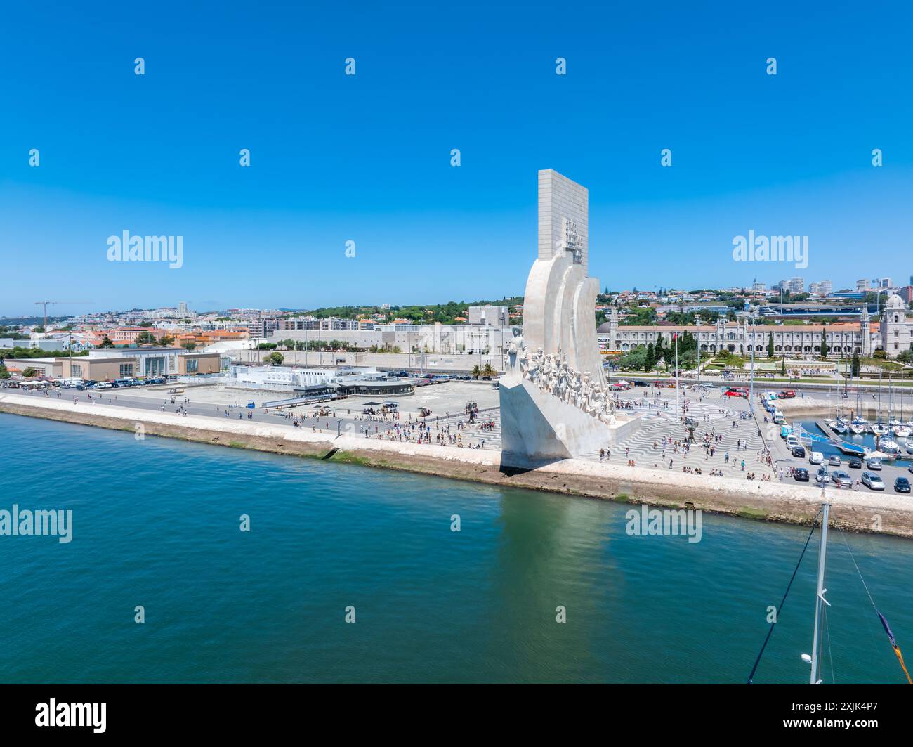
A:
[[[589,193],[539,172],[539,255],[523,299],[523,335],[500,380],[502,464],[580,457],[615,442],[622,424],[596,341],[599,280],[590,278]]]

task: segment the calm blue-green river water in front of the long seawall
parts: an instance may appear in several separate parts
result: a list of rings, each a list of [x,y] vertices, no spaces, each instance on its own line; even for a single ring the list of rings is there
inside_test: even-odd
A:
[[[807,534],[631,537],[610,502],[19,416],[0,444],[0,509],[74,512],[68,544],[0,537],[3,682],[741,682]],[[824,679],[900,682],[832,537]],[[847,539],[913,658],[913,542]],[[756,681],[807,681],[813,573]]]

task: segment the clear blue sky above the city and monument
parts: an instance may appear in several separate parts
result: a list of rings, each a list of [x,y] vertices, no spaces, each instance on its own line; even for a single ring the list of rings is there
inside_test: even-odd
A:
[[[0,314],[522,293],[540,168],[612,289],[913,272],[908,3],[206,5],[5,5]],[[107,261],[123,230],[184,268]],[[733,262],[749,230],[809,267]]]

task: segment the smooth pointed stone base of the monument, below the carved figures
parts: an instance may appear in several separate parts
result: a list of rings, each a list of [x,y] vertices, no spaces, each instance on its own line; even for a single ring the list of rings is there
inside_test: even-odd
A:
[[[505,376],[498,391],[501,463],[505,465],[527,467],[580,458],[612,447],[630,431],[629,419],[608,425],[526,379]]]

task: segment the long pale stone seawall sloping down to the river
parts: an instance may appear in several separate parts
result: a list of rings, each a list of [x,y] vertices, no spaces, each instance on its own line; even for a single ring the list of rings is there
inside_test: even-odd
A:
[[[0,412],[44,417],[148,436],[180,438],[216,446],[327,458],[369,467],[401,469],[502,487],[549,490],[630,503],[715,511],[762,521],[809,524],[820,490],[800,484],[668,473],[659,469],[562,459],[543,465],[504,467],[498,452],[441,447],[353,436],[335,437],[289,426],[178,416],[129,407],[73,404],[41,395],[0,395]],[[892,493],[827,489],[832,521],[847,531],[880,531],[913,537],[913,500]]]

